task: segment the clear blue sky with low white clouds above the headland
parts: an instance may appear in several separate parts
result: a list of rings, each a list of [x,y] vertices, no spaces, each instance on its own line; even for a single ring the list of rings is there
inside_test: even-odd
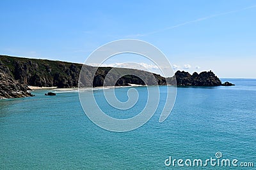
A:
[[[140,39],[173,69],[256,78],[256,1],[0,1],[0,54],[83,63],[99,46]],[[120,55],[106,66],[138,62]]]

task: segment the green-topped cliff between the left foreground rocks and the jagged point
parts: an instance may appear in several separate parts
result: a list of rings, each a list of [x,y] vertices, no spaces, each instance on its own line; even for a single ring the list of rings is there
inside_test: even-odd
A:
[[[42,59],[26,59],[19,57],[10,57],[0,55],[0,61],[9,69],[10,75],[15,80],[25,85],[38,87],[78,87],[79,74],[83,64],[76,64],[70,62],[42,60]],[[92,78],[95,67],[84,66],[84,86],[90,86],[90,78]],[[93,76],[93,87],[100,87],[104,83],[104,79],[111,67],[100,67],[95,76]],[[131,73],[143,75],[147,79],[151,75],[146,71],[135,69],[118,69],[118,71],[125,72],[130,70]],[[166,85],[166,81],[158,74],[154,74],[158,80],[159,85]],[[109,84],[116,80],[118,73],[111,73],[109,76]],[[148,78],[149,79],[149,78]],[[128,83],[145,85],[138,76],[124,76],[120,78],[115,85],[124,86]],[[150,83],[147,83],[150,85]]]

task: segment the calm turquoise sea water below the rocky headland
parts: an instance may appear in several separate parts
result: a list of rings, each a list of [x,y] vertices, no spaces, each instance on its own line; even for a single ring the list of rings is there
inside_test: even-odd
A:
[[[155,115],[130,132],[110,132],[93,124],[76,91],[44,96],[48,90],[35,90],[35,97],[1,100],[0,169],[202,169],[166,167],[164,161],[169,156],[216,159],[216,152],[224,159],[253,162],[255,168],[256,80],[228,81],[236,86],[178,88],[175,106],[163,123],[158,120],[166,87],[160,87]],[[116,89],[118,99],[127,100],[122,95],[127,89]],[[147,96],[146,87],[136,89],[141,98],[134,108],[119,113],[106,105],[104,111],[118,118],[136,115]],[[102,94],[95,90],[97,101],[104,105]]]

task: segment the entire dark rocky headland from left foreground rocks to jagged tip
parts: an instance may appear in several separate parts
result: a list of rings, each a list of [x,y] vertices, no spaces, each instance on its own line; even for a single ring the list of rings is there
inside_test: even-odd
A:
[[[28,59],[0,55],[0,99],[33,96],[28,92],[29,86],[35,87],[78,87],[79,74],[83,64],[62,62],[55,60]],[[95,67],[84,66],[86,74],[93,74]],[[99,67],[93,79],[93,87],[102,87],[106,74],[112,67]],[[122,70],[124,68],[117,68]],[[147,76],[147,71],[131,69],[132,72]],[[92,76],[92,75],[91,75]],[[204,71],[192,75],[185,71],[177,71],[175,76],[164,78],[154,74],[158,85],[185,86],[230,86],[232,83],[221,83],[220,79],[212,71]],[[176,78],[177,84],[174,82]],[[145,85],[137,76],[127,75],[116,81],[116,86],[129,84]]]

